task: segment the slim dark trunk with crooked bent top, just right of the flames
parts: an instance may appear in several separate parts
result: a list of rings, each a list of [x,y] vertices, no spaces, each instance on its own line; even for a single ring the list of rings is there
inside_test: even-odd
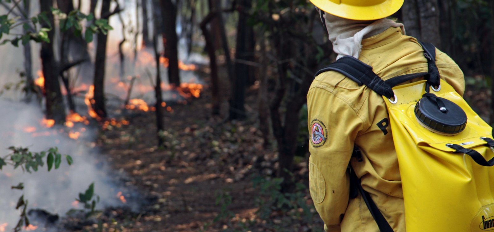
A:
[[[206,50],[209,56],[209,68],[211,69],[211,94],[212,94],[212,115],[219,115],[220,111],[220,93],[219,93],[219,79],[218,79],[218,66],[216,64],[216,54],[214,49],[214,43],[211,38],[211,33],[207,30],[207,23],[215,18],[217,12],[213,11],[210,7],[209,14],[203,19],[199,25],[203,31],[204,39],[206,40]]]

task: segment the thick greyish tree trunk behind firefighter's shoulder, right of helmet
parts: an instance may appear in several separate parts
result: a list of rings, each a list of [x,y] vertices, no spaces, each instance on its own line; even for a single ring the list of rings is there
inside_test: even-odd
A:
[[[437,0],[417,0],[420,13],[420,38],[441,48],[441,33],[439,31],[439,5]]]

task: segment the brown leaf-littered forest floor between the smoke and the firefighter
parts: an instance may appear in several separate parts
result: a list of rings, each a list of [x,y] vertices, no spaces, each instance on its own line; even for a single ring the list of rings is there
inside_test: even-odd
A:
[[[223,87],[226,111],[228,91]],[[322,231],[306,187],[305,158],[294,171],[298,191],[279,192],[280,182],[274,178],[277,153],[273,145],[262,147],[255,85],[247,91],[248,116],[242,121],[227,121],[226,113],[211,116],[209,92],[203,90],[186,105],[171,105],[172,113],[165,111],[165,148],[157,146],[154,112],[130,114],[129,125],[102,130],[96,144],[115,170],[123,170],[126,185],[137,187],[140,209],[109,208],[89,220],[66,218],[64,227],[110,232]]]

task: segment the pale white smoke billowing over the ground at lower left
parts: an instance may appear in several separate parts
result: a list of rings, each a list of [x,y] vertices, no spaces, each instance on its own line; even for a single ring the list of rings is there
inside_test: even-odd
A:
[[[64,128],[45,128],[41,125],[43,113],[36,104],[7,102],[0,100],[3,109],[0,115],[0,156],[7,155],[10,146],[27,147],[30,151],[40,152],[51,147],[57,147],[61,154],[71,155],[74,163],[69,166],[65,156],[59,169],[47,171],[47,165],[40,167],[37,172],[23,172],[19,167],[13,169],[4,166],[0,170],[0,225],[7,223],[6,231],[11,230],[19,220],[20,210],[15,210],[18,198],[24,194],[29,200],[28,209],[44,209],[52,214],[65,216],[65,213],[77,208],[72,204],[79,193],[84,193],[94,182],[94,192],[100,196],[96,208],[105,206],[137,207],[137,202],[128,201],[124,204],[118,192],[126,190],[122,184],[116,183],[119,178],[103,160],[104,155],[98,154],[94,148],[96,130],[85,128],[78,140],[73,140],[63,131]],[[31,132],[24,131],[27,127]],[[36,128],[35,132],[32,132]],[[46,157],[43,158],[46,161]],[[11,190],[11,186],[24,183],[24,190]],[[82,209],[82,204],[79,204]]]

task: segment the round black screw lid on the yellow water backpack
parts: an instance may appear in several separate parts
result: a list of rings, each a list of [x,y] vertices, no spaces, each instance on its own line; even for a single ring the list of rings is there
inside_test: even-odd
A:
[[[444,106],[438,106],[437,100]],[[456,134],[466,126],[467,117],[463,109],[445,98],[423,97],[415,105],[414,112],[418,120],[438,132]]]

